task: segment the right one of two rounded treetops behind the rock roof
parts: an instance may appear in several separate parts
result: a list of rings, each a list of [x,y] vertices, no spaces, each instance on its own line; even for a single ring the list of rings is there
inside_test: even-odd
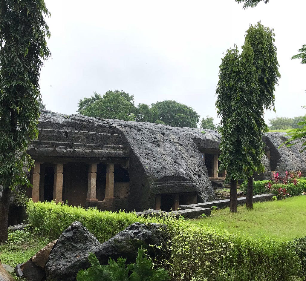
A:
[[[199,122],[196,111],[174,100],[152,103],[151,109],[157,112],[158,120],[172,127],[196,128]]]

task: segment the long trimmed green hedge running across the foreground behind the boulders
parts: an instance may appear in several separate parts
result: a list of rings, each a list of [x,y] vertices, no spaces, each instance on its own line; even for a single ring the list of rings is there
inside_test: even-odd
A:
[[[155,265],[169,270],[171,281],[293,281],[305,280],[305,238],[293,242],[253,239],[224,230],[190,225],[174,216],[144,218],[135,213],[101,212],[54,202],[28,202],[29,222],[54,239],[80,221],[100,242],[139,222],[166,224],[170,233],[164,256]],[[159,245],[152,245],[160,249]],[[170,255],[169,255],[170,253]]]

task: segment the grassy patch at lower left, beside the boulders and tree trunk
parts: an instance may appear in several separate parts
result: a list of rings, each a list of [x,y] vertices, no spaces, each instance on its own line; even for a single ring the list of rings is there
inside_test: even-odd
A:
[[[49,242],[49,239],[29,231],[9,232],[8,242],[0,245],[0,261],[15,267],[34,256]]]

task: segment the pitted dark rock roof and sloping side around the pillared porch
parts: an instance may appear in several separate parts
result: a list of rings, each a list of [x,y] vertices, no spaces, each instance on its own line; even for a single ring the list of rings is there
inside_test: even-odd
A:
[[[34,159],[129,158],[129,187],[133,192],[126,206],[130,210],[152,208],[155,194],[192,192],[199,202],[214,197],[198,145],[218,149],[220,136],[216,131],[203,134],[202,129],[50,111],[43,111],[39,121],[39,138],[28,150]]]

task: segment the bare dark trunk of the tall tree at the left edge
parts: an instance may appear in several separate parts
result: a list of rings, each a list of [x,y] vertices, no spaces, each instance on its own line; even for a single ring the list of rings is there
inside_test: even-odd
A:
[[[10,188],[3,188],[0,199],[0,244],[7,241],[9,200],[11,198],[11,193],[12,190]]]

